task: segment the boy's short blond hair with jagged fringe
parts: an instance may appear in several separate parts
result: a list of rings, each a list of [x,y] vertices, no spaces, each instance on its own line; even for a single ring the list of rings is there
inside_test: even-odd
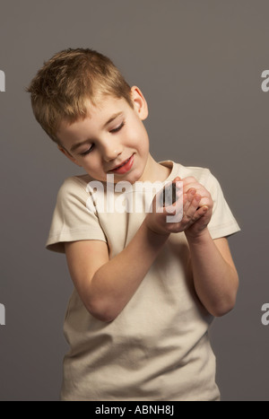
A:
[[[104,95],[112,95],[126,99],[133,108],[123,75],[108,57],[89,48],[58,52],[39,69],[26,91],[35,118],[56,143],[60,122],[88,116],[89,100],[96,106]]]

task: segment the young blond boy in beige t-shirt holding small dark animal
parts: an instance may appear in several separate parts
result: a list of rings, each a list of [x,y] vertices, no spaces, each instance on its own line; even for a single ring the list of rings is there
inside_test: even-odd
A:
[[[96,51],[56,54],[28,92],[41,127],[86,172],[60,188],[47,242],[74,281],[61,399],[219,400],[208,327],[236,301],[226,237],[239,226],[218,181],[154,161],[143,93]],[[156,182],[182,186],[182,217],[171,222],[177,203],[158,194],[146,210]],[[143,205],[118,205],[123,187],[125,202]]]

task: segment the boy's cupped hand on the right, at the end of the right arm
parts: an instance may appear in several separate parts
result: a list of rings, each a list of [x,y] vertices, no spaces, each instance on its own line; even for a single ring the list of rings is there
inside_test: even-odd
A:
[[[183,182],[183,196],[193,193],[195,196],[200,196],[200,201],[197,210],[193,216],[193,220],[185,230],[187,238],[195,238],[206,229],[207,224],[210,222],[213,214],[213,199],[210,192],[204,188],[195,178],[188,177],[180,179]],[[184,207],[183,217],[186,216],[187,208]],[[200,216],[199,216],[200,215]]]

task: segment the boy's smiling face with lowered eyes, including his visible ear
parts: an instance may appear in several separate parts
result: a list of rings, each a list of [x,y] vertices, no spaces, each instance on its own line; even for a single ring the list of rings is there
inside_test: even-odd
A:
[[[134,109],[124,99],[106,96],[100,107],[90,106],[90,117],[73,124],[63,122],[57,137],[59,149],[93,178],[114,182],[148,179],[151,159],[143,119],[146,101],[137,87],[131,90]]]

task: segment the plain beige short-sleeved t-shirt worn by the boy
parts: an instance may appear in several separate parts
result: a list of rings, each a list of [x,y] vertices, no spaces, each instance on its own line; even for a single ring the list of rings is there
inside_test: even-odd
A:
[[[171,169],[167,181],[194,176],[210,191],[214,205],[208,228],[213,239],[239,231],[210,170],[173,161],[161,164]],[[64,252],[65,241],[104,240],[109,258],[114,258],[134,237],[145,212],[102,212],[101,206],[93,211],[91,200],[96,201],[98,193],[87,187],[91,181],[89,175],[65,180],[57,196],[47,249]],[[122,191],[116,193],[121,201]],[[127,193],[138,201],[146,195],[135,187]],[[128,281],[128,272],[123,275]],[[74,289],[65,315],[70,351],[64,360],[61,399],[218,400],[215,357],[208,337],[212,320],[195,294],[186,236],[170,234],[117,319],[106,323],[92,317]]]

